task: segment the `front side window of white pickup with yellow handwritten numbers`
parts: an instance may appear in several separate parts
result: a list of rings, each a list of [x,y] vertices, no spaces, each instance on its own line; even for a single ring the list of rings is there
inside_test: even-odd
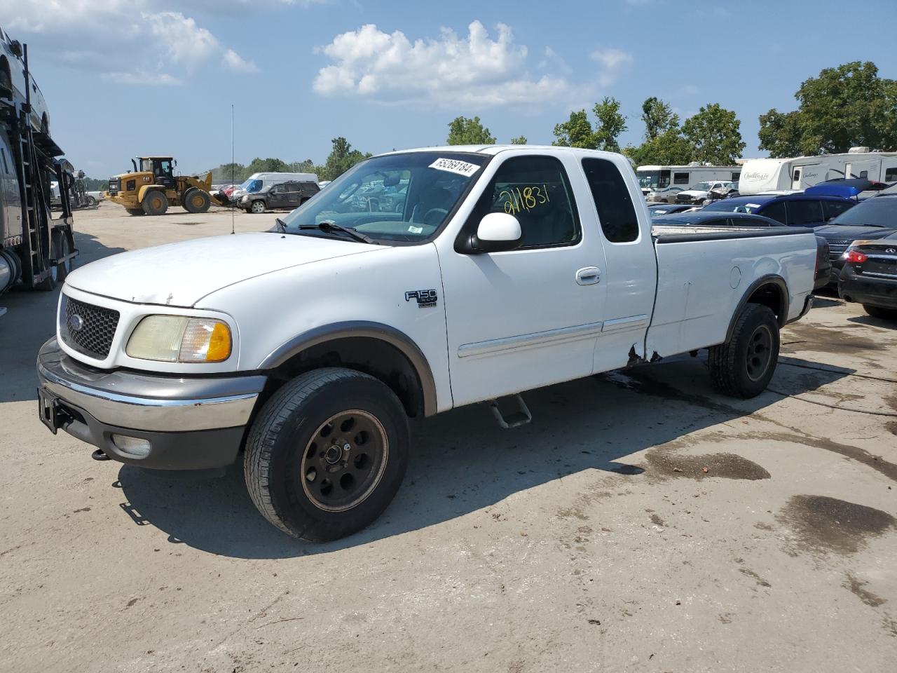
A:
[[[488,213],[517,218],[523,232],[521,248],[573,245],[582,237],[567,172],[554,157],[518,157],[502,163],[473,218],[479,223]]]

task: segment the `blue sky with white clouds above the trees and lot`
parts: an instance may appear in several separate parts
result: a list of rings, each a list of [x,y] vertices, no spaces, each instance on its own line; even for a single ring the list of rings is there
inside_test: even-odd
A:
[[[894,0],[861,14],[843,0],[392,2],[391,0],[0,0],[30,44],[52,133],[75,166],[105,178],[135,154],[181,170],[255,156],[323,162],[344,135],[366,152],[440,144],[457,115],[500,142],[553,140],[571,109],[640,104],[681,117],[734,109],[757,151],[757,117],[793,109],[820,69],[872,60],[897,78]],[[844,37],[839,38],[843,32]]]

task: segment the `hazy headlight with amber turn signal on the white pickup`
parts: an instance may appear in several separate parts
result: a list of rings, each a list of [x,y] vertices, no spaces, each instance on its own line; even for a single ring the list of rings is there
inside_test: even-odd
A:
[[[147,316],[125,351],[130,357],[163,363],[221,363],[231,356],[231,329],[211,318]]]

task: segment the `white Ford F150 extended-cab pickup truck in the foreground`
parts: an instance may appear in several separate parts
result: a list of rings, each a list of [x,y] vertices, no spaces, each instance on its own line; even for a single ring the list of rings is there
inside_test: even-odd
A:
[[[388,209],[353,197],[400,182]],[[146,468],[220,470],[243,450],[267,520],[335,539],[396,494],[409,416],[701,348],[719,389],[757,395],[815,261],[804,228],[652,233],[618,154],[388,153],[270,232],[75,270],[39,353],[39,415]],[[514,401],[493,406],[501,424],[528,420]]]

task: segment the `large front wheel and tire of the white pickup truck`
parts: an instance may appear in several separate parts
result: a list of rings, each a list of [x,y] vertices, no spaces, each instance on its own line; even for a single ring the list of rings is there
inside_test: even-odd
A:
[[[409,443],[405,409],[386,384],[361,371],[308,371],[278,390],[253,422],[246,485],[262,516],[287,535],[344,538],[392,501]]]

